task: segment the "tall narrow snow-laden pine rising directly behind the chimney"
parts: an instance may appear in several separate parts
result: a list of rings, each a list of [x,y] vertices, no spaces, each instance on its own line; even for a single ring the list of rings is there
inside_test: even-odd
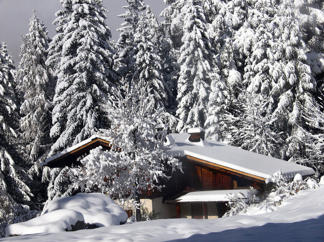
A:
[[[187,1],[181,8],[184,15],[183,45],[180,48],[179,102],[177,126],[179,132],[190,127],[203,127],[207,118],[207,103],[211,85],[213,53],[207,33],[203,2]]]

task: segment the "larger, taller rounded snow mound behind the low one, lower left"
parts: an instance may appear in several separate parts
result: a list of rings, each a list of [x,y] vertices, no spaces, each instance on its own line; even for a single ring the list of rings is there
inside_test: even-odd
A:
[[[102,193],[78,193],[75,196],[54,199],[44,207],[41,215],[60,209],[72,209],[82,213],[86,227],[120,225],[128,217],[118,204]]]

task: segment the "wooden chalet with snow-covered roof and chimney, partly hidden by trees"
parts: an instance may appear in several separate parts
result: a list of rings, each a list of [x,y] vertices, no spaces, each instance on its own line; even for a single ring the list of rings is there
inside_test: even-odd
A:
[[[242,199],[269,189],[267,179],[278,170],[286,179],[299,173],[312,176],[312,168],[249,152],[228,144],[205,139],[202,128],[188,133],[168,135],[170,152],[182,162],[183,173],[175,172],[162,191],[147,190],[141,201],[159,218],[217,218],[226,212],[228,194],[243,194]],[[77,165],[78,157],[95,147],[110,149],[110,142],[98,135],[49,157],[43,165],[54,167]],[[252,194],[249,187],[255,190]],[[134,208],[124,209],[132,215]]]

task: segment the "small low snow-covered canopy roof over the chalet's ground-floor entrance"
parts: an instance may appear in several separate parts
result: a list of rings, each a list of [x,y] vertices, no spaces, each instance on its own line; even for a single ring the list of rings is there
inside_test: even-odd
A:
[[[235,194],[242,199],[248,199],[257,193],[258,190],[255,189],[252,190],[252,192],[250,192],[249,189],[193,191],[177,198],[176,200],[177,202],[228,202]]]

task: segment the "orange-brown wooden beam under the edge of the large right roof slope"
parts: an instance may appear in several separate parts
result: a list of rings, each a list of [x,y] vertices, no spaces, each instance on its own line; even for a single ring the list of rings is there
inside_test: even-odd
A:
[[[195,163],[198,163],[198,164],[203,164],[203,165],[205,165],[207,167],[210,167],[210,168],[213,168],[213,169],[216,169],[216,170],[226,171],[227,173],[230,173],[230,174],[233,174],[233,175],[236,175],[236,176],[239,176],[239,177],[245,177],[245,178],[249,178],[249,179],[252,179],[252,180],[256,180],[258,182],[262,182],[262,183],[265,184],[265,178],[258,177],[258,176],[255,176],[255,175],[252,175],[252,174],[249,174],[249,173],[245,173],[245,172],[242,172],[242,171],[238,171],[238,170],[235,170],[235,169],[232,169],[232,168],[229,168],[229,167],[224,167],[224,166],[221,166],[221,165],[217,165],[215,163],[205,161],[205,160],[202,160],[202,159],[198,159],[198,158],[195,158],[193,156],[187,156],[187,158],[192,162],[195,162]]]

